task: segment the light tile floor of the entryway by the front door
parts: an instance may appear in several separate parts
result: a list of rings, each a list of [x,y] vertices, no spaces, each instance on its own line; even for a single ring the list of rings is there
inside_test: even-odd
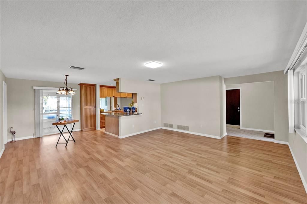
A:
[[[264,133],[265,132],[255,130],[243,130],[239,128],[227,127],[227,135],[229,136],[274,142],[273,138],[264,138]]]

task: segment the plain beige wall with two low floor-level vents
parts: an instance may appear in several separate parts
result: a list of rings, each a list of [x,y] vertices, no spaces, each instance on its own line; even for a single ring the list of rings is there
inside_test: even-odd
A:
[[[220,137],[226,133],[224,90],[220,76],[161,84],[161,126],[184,125],[190,132]]]

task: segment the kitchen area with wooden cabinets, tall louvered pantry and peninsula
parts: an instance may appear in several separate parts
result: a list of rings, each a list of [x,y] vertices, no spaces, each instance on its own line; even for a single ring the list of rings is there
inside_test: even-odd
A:
[[[138,122],[142,117],[137,105],[139,96],[137,93],[126,93],[125,89],[120,91],[119,80],[114,80],[116,86],[79,84],[81,131],[101,130],[106,134],[122,138],[142,128]],[[139,100],[143,102],[144,97],[140,97]],[[141,104],[143,107],[143,103]],[[134,125],[137,125],[135,129]]]

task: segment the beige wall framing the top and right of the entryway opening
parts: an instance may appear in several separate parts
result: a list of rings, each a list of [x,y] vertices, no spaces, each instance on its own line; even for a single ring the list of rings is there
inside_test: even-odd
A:
[[[283,71],[224,78],[225,85],[274,81],[275,141],[288,142],[288,78]]]

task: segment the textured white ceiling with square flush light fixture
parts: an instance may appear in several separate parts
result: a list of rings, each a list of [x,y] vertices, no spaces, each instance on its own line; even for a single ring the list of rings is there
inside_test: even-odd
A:
[[[11,78],[63,82],[69,74],[70,83],[101,84],[284,70],[306,7],[307,1],[1,1],[1,70]],[[164,65],[144,66],[153,60]]]

